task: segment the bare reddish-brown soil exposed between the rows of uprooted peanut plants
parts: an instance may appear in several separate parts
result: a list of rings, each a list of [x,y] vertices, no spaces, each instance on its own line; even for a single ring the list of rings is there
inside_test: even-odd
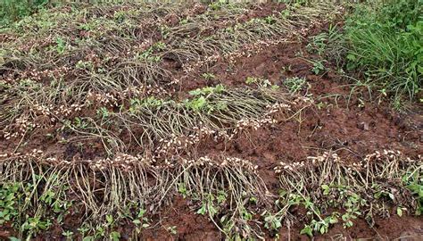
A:
[[[278,10],[284,6],[278,5]],[[247,21],[253,17],[269,15],[275,6],[258,8],[249,15],[241,16],[239,21]],[[198,12],[203,10],[198,9]],[[174,16],[178,18],[178,16]],[[169,16],[170,24],[173,20]],[[214,26],[219,28],[220,26]],[[213,28],[214,28],[213,27]],[[317,33],[322,29],[313,29]],[[206,33],[205,33],[206,34]],[[0,36],[4,39],[4,36]],[[3,41],[3,40],[2,40]],[[284,81],[290,77],[302,77],[310,84],[305,93],[311,94],[316,102],[315,107],[304,110],[301,120],[281,121],[267,128],[250,130],[244,135],[229,142],[216,143],[212,140],[203,141],[198,147],[198,154],[228,154],[242,157],[259,166],[259,174],[270,189],[278,193],[278,176],[273,168],[278,162],[303,161],[307,156],[321,153],[325,150],[336,150],[344,160],[356,162],[366,154],[374,151],[392,149],[402,151],[413,158],[423,154],[423,108],[415,106],[407,112],[394,112],[387,99],[371,99],[364,90],[349,87],[349,82],[340,75],[336,66],[326,64],[328,71],[320,75],[311,72],[312,64],[308,60],[318,56],[308,54],[306,41],[294,41],[276,46],[267,46],[261,53],[243,56],[234,61],[220,59],[207,70],[199,70],[182,80],[177,96],[184,96],[189,90],[224,84],[228,87],[245,85],[247,77],[269,79],[270,82],[284,87]],[[183,75],[176,64],[170,64],[176,75]],[[171,67],[173,66],[173,67]],[[215,79],[203,79],[201,74],[209,72]],[[364,104],[361,104],[364,102]],[[59,128],[59,126],[52,129]],[[12,152],[20,142],[26,143],[25,149],[44,150],[47,154],[71,160],[72,158],[95,159],[104,156],[103,145],[92,141],[90,148],[81,150],[77,145],[63,145],[58,138],[47,138],[52,129],[38,130],[31,137],[16,141],[0,137],[0,150]],[[28,138],[28,139],[27,139]],[[137,150],[134,150],[137,151]],[[78,217],[71,217],[78,219]],[[160,214],[152,217],[150,228],[140,235],[143,240],[221,240],[224,239],[220,230],[205,216],[196,214],[192,204],[177,196],[171,204],[162,208]],[[66,220],[71,224],[72,220]],[[68,227],[71,228],[71,227]],[[76,227],[78,228],[78,227]],[[130,237],[132,227],[122,227],[122,239]],[[0,228],[0,239],[12,235],[9,228]],[[308,240],[300,236],[303,223],[294,223],[290,229],[284,228],[279,233],[280,240]],[[55,233],[57,232],[57,233]],[[37,240],[50,238],[60,239],[61,229],[53,233],[41,235]],[[377,219],[374,227],[369,227],[365,220],[354,220],[350,229],[344,229],[336,224],[324,236],[324,239],[423,239],[423,219],[413,216],[402,218],[393,215],[386,219]],[[267,237],[274,238],[274,237]]]

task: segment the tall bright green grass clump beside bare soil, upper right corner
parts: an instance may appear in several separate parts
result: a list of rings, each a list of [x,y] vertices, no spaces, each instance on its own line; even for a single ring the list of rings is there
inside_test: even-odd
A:
[[[345,26],[348,69],[385,96],[414,98],[422,87],[422,12],[414,0],[359,5]]]

